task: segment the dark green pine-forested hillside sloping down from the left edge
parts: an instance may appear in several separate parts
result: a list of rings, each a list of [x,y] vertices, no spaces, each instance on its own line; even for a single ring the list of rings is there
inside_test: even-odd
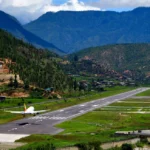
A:
[[[57,90],[67,86],[67,77],[56,62],[59,59],[56,54],[36,49],[3,30],[0,30],[0,58],[15,62],[9,68],[20,75],[24,84]]]

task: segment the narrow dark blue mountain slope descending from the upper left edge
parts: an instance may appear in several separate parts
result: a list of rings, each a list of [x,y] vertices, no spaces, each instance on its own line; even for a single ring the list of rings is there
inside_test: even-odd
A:
[[[24,41],[31,43],[40,48],[47,48],[58,53],[62,53],[60,49],[53,44],[44,41],[33,33],[25,30],[22,25],[14,17],[0,11],[0,28],[12,33],[15,37],[23,39]]]

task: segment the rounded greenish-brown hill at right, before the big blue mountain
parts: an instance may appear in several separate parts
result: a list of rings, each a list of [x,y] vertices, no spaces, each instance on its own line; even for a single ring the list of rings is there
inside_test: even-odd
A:
[[[150,72],[150,44],[115,44],[91,47],[71,54],[73,59],[86,59],[116,71],[135,70]]]

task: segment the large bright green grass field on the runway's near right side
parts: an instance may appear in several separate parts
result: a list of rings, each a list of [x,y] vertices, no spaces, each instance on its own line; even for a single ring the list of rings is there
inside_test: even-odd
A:
[[[132,103],[132,100],[134,103]],[[35,141],[44,141],[49,138],[50,141],[54,141],[56,146],[62,147],[92,141],[103,143],[131,138],[117,137],[114,133],[116,131],[149,129],[150,114],[140,114],[138,112],[149,110],[150,103],[137,107],[135,102],[138,103],[139,99],[127,99],[126,101],[130,103],[124,103],[125,100],[120,103],[113,103],[57,125],[57,127],[65,129],[64,132],[58,135],[32,135],[19,141],[33,142],[33,139]],[[126,105],[124,106],[124,104]]]

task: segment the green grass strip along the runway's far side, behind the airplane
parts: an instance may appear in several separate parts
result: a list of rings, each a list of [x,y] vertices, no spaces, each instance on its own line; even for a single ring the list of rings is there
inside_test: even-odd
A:
[[[76,97],[76,98],[69,98],[66,101],[65,100],[57,100],[57,101],[48,101],[46,99],[25,99],[26,101],[30,101],[30,103],[32,103],[32,106],[35,107],[35,110],[48,110],[48,111],[53,111],[53,110],[58,110],[61,108],[65,108],[68,106],[73,106],[76,104],[80,104],[80,103],[84,103],[87,101],[91,101],[94,99],[98,99],[98,98],[103,98],[103,97],[107,97],[107,96],[112,96],[112,95],[116,95],[122,92],[127,92],[129,90],[133,90],[135,88],[133,87],[113,87],[113,88],[107,88],[107,91],[104,92],[100,92],[100,93],[95,93],[93,92],[93,94],[90,95],[86,95],[86,96],[82,96],[82,97]],[[9,99],[6,100],[5,102],[0,103],[0,108],[5,109],[5,107],[8,106],[18,106],[18,102],[22,102],[22,99]],[[42,102],[42,103],[40,103]],[[43,103],[45,102],[45,103]],[[35,103],[40,103],[40,104],[35,104]],[[8,109],[9,110],[9,109]],[[23,106],[19,106],[18,108],[10,108],[10,110],[23,110]],[[20,119],[22,118],[22,115],[14,115],[14,114],[9,114],[4,112],[3,110],[0,110],[0,124],[3,123],[7,123],[10,122],[12,120],[16,120],[16,119]]]

